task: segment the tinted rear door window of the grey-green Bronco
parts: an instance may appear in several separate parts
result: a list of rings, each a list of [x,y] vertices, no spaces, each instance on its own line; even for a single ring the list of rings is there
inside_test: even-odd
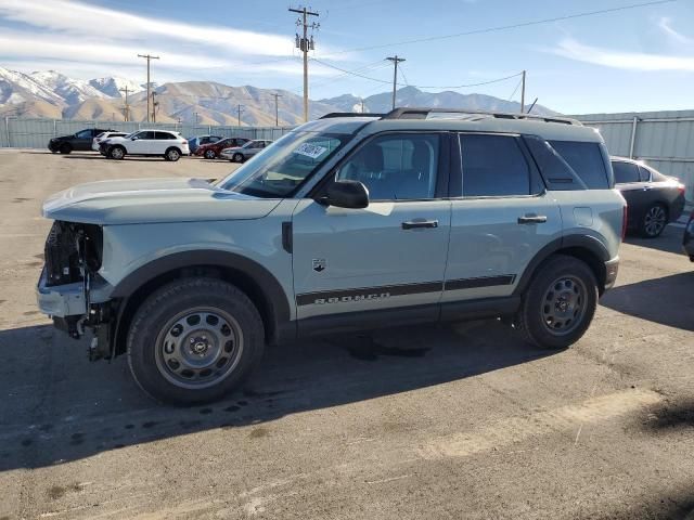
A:
[[[515,138],[461,134],[463,196],[530,195],[530,170]]]

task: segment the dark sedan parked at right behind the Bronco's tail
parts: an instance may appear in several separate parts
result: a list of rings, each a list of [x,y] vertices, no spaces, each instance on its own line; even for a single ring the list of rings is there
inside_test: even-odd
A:
[[[667,177],[641,160],[612,157],[615,187],[629,206],[627,229],[646,238],[663,233],[684,210],[684,184]]]

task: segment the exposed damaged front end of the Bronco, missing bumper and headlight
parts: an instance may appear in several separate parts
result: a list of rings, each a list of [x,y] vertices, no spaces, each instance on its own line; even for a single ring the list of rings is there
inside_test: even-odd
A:
[[[56,328],[79,339],[87,328],[94,337],[90,360],[110,355],[112,303],[108,284],[99,275],[103,252],[100,225],[55,221],[46,239],[46,264],[37,287],[41,312]]]

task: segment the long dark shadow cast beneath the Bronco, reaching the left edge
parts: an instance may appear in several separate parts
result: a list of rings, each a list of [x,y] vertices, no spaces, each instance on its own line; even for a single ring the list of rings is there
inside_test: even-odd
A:
[[[20,348],[17,350],[17,348]],[[86,341],[50,326],[0,333],[0,470],[37,468],[213,428],[406,392],[526,363],[532,349],[498,321],[417,327],[269,349],[249,386],[209,406],[153,403],[127,363],[90,364]]]

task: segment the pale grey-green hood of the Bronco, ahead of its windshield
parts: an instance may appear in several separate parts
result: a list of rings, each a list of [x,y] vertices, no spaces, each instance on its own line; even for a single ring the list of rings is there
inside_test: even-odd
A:
[[[204,179],[124,179],[80,184],[50,196],[43,217],[86,224],[260,219],[280,199],[215,187]]]

